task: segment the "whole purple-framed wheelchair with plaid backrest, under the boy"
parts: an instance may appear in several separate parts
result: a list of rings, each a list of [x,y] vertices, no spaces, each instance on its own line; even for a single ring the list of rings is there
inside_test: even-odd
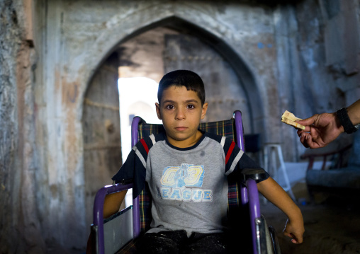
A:
[[[150,134],[164,131],[162,125],[147,124],[142,118],[134,117],[131,126],[132,146]],[[237,110],[230,120],[201,123],[199,129],[213,134],[229,137],[237,146],[245,151],[242,113]],[[253,254],[281,253],[276,232],[272,226],[267,226],[260,214],[259,193],[257,190],[256,170],[245,172],[240,183],[229,180],[228,219],[234,219],[235,231],[241,226],[244,231],[240,237],[246,238],[246,250]],[[252,178],[249,176],[252,175]],[[91,224],[91,236],[94,236],[96,253],[136,253],[135,242],[148,229],[151,223],[151,197],[148,187],[142,190],[133,200],[133,205],[123,209],[111,217],[103,219],[103,203],[106,195],[129,190],[133,183],[124,180],[123,183],[106,185],[97,193],[94,201],[94,221]],[[242,218],[246,218],[244,222]]]

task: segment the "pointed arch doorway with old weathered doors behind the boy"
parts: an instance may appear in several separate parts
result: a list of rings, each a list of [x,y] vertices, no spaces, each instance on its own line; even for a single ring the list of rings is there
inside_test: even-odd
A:
[[[154,40],[155,37],[159,40]],[[157,50],[152,50],[154,45]],[[167,71],[191,69],[206,83],[206,100],[210,104],[206,121],[230,118],[233,110],[240,109],[244,112],[245,132],[261,132],[264,128],[261,100],[251,71],[226,42],[209,31],[180,18],[166,18],[123,38],[118,46],[113,47],[112,52],[116,53],[118,62],[116,57],[113,57],[112,61],[110,57],[98,67],[89,83],[84,100],[82,124],[86,225],[91,223],[96,190],[111,182],[111,176],[122,163],[120,139],[121,135],[127,134],[120,134],[121,118],[116,111],[119,105],[118,96],[117,100],[108,100],[106,94],[100,92],[103,90],[111,91],[112,95],[118,94],[116,86],[113,86],[119,77],[118,67],[128,68],[128,74],[120,77],[139,76],[138,74],[142,73],[141,76],[150,77],[157,82]],[[144,71],[146,69],[147,71]],[[103,82],[101,79],[107,81]],[[91,105],[89,98],[96,98],[99,103]],[[111,105],[108,105],[110,102]],[[94,108],[101,103],[106,105],[102,108],[104,113],[94,115],[95,111],[91,107]],[[98,110],[99,108],[101,107],[98,107]],[[112,110],[111,116],[106,115],[105,111],[108,110]],[[102,130],[99,131],[96,127]],[[112,131],[112,138],[109,138],[109,129]],[[101,135],[103,138],[98,139]],[[103,142],[103,147],[108,148],[94,149],[96,145],[89,143],[89,140],[94,142],[94,138]],[[95,158],[99,160],[94,161]]]

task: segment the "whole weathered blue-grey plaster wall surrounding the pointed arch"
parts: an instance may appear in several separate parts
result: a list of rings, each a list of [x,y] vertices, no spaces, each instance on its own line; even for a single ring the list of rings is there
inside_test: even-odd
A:
[[[36,13],[33,40],[28,3]],[[86,89],[120,42],[169,18],[217,38],[213,46],[252,99],[252,132],[283,144],[288,161],[303,148],[279,121],[284,110],[308,117],[360,98],[355,0],[24,0],[1,1],[0,8],[2,253],[42,253],[45,242],[84,248],[91,213],[84,208]]]

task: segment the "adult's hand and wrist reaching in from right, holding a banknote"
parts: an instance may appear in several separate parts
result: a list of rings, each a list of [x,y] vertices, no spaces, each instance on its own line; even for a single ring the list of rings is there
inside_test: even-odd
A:
[[[360,123],[360,100],[347,108],[347,114],[353,125]],[[298,130],[300,142],[311,149],[327,146],[334,141],[339,134],[344,132],[344,127],[337,117],[337,113],[316,114],[304,120],[296,121],[305,125],[305,129]]]

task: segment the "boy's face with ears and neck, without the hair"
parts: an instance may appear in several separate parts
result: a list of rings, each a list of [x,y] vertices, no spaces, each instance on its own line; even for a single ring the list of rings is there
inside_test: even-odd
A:
[[[170,144],[186,148],[198,142],[202,136],[198,125],[206,115],[208,103],[201,106],[196,92],[187,91],[185,86],[170,86],[162,92],[160,104],[155,105]]]

